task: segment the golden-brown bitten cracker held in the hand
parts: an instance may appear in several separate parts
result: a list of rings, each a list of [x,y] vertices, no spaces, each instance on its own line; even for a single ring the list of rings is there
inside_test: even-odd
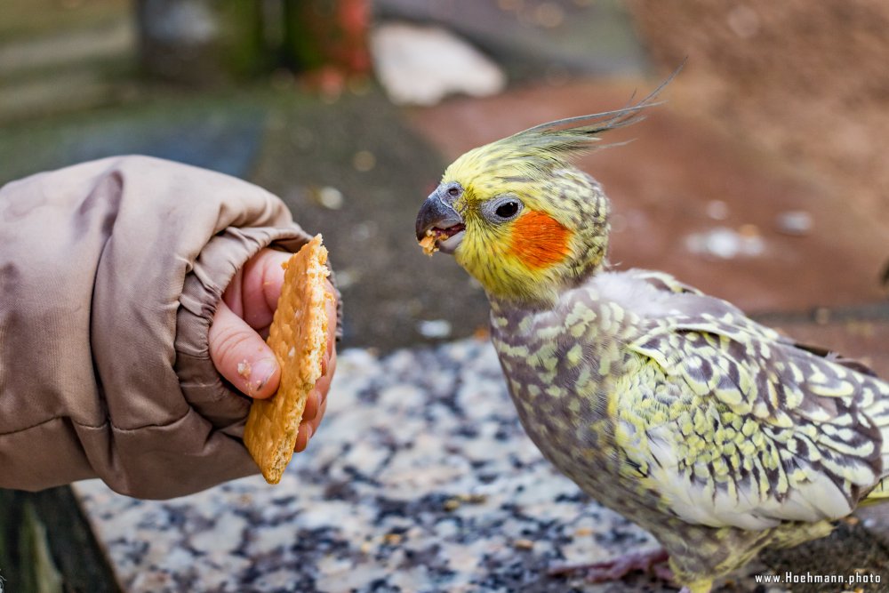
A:
[[[273,397],[253,400],[244,427],[244,445],[269,484],[281,481],[308,394],[322,374],[331,323],[325,301],[332,299],[326,263],[327,249],[316,235],[282,266],[284,284],[266,341],[281,365],[281,383]]]

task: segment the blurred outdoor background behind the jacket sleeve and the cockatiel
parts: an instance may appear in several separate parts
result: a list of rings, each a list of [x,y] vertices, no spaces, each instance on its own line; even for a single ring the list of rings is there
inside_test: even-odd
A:
[[[0,183],[132,153],[251,180],[324,234],[342,346],[385,354],[486,332],[413,236],[446,164],[687,59],[581,160],[611,260],[889,376],[887,31],[883,0],[3,0]]]

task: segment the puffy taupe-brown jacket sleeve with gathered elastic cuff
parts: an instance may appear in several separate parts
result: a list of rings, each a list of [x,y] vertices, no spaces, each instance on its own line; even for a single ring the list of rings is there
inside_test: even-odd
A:
[[[0,487],[171,498],[256,472],[208,329],[245,260],[307,240],[267,191],[144,156],[0,188]]]

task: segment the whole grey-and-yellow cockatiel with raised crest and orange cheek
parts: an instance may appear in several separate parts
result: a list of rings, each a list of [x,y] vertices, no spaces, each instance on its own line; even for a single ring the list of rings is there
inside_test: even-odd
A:
[[[608,199],[571,159],[641,119],[662,86],[470,150],[416,232],[484,287],[509,394],[544,457],[705,593],[765,546],[889,500],[889,383],[672,276],[610,269]],[[592,566],[612,578],[665,557]]]

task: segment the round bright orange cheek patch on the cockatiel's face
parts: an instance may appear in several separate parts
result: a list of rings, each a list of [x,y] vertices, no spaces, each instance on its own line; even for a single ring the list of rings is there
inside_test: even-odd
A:
[[[529,268],[546,268],[568,255],[571,231],[543,212],[525,211],[512,223],[509,252]]]

